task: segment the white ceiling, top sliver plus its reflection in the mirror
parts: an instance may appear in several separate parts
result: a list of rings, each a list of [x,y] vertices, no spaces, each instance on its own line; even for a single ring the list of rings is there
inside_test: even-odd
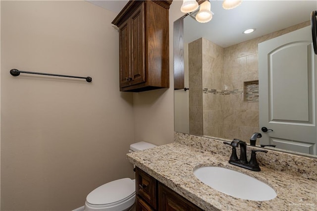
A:
[[[128,0],[88,0],[119,13]],[[230,10],[222,8],[222,0],[210,0],[214,13],[209,23],[199,23],[190,16],[184,22],[184,42],[204,37],[222,47],[228,47],[310,20],[317,10],[317,0],[243,0]],[[245,29],[256,28],[244,35]]]

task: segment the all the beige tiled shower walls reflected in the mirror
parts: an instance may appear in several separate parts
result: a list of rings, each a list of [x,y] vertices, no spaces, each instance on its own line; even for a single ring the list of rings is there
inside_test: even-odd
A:
[[[224,49],[204,38],[190,43],[190,134],[249,142],[260,132],[259,103],[244,102],[243,96],[244,82],[258,80],[258,44],[308,25],[310,21]]]

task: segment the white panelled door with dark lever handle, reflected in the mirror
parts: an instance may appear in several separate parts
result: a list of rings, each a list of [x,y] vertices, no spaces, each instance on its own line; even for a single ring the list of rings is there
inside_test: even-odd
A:
[[[310,26],[259,44],[261,144],[316,155],[316,63]]]

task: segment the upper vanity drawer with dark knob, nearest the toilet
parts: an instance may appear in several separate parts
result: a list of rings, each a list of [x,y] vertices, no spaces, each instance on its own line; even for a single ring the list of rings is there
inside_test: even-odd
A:
[[[147,202],[154,210],[157,209],[157,187],[155,178],[139,168],[135,171],[136,194]]]

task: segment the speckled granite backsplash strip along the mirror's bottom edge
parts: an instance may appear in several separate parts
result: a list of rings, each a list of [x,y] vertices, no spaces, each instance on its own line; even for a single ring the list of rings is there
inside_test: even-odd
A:
[[[228,160],[231,155],[231,147],[223,144],[223,141],[230,142],[231,140],[207,138],[174,132],[174,141],[189,147],[225,156]],[[252,149],[259,148],[247,146],[248,159],[250,159]],[[317,158],[270,150],[268,148],[265,148],[265,150],[268,152],[257,154],[260,167],[265,166],[300,178],[317,181]],[[238,157],[239,154],[239,148],[237,148]]]

